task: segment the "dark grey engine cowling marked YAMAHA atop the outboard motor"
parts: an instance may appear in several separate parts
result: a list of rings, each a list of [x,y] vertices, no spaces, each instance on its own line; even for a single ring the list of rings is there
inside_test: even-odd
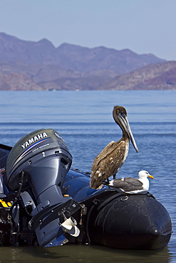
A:
[[[18,189],[19,171],[24,170],[38,198],[45,188],[62,186],[71,162],[72,156],[61,135],[53,129],[39,129],[24,136],[11,150],[6,180],[11,190]]]

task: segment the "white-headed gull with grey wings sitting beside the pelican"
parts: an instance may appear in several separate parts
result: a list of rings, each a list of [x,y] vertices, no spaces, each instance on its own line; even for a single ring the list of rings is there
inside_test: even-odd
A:
[[[145,194],[148,192],[149,189],[149,180],[147,177],[154,179],[147,171],[140,171],[138,173],[138,179],[132,177],[126,177],[121,179],[114,179],[109,181],[108,183],[105,182],[105,185],[111,186],[115,189],[120,189],[123,193],[130,193],[130,194]]]

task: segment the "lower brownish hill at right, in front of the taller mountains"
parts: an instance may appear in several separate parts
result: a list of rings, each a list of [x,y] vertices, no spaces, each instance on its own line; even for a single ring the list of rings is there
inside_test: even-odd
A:
[[[176,90],[176,61],[147,65],[120,75],[99,90]]]

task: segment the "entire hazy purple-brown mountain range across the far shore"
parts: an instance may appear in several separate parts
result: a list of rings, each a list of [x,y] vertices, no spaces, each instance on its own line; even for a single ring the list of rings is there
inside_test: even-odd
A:
[[[0,33],[0,90],[176,90],[176,61]]]

